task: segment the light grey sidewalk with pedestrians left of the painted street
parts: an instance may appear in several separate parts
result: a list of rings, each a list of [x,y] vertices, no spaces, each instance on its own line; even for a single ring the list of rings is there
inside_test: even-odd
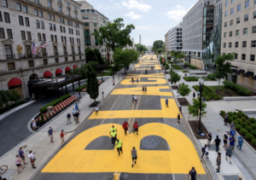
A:
[[[131,69],[132,67],[130,70]],[[116,73],[114,78],[115,85],[113,85],[113,78],[110,77],[99,86],[99,96],[96,99],[97,102],[102,102],[102,91],[104,91],[104,98],[106,98],[113,88],[119,84],[119,81],[125,78],[125,75],[122,75],[123,72],[124,69],[121,69],[118,73]],[[79,102],[80,123],[78,125],[75,125],[73,118],[71,120],[72,124],[67,125],[67,113],[71,113],[74,107],[71,106],[67,108],[65,112],[61,113],[54,120],[52,120],[48,125],[45,125],[40,131],[34,132],[32,136],[29,136],[24,142],[21,142],[17,147],[13,148],[5,157],[1,157],[0,165],[8,165],[9,167],[8,171],[6,171],[2,177],[17,180],[31,179],[33,175],[40,169],[40,166],[44,165],[44,162],[50,158],[51,154],[54,154],[61,148],[61,130],[65,130],[64,132],[76,130],[79,125],[82,124],[82,122],[90,115],[90,113],[94,111],[94,107],[89,107],[92,102],[93,100],[90,100],[89,95],[84,96],[84,98]],[[54,143],[49,141],[49,126],[51,126],[55,131]],[[67,140],[67,138],[71,135],[72,133],[67,133],[65,140]],[[32,150],[32,152],[36,152],[35,158],[37,160],[35,165],[38,167],[36,170],[32,169],[32,165],[29,163],[28,165],[25,165],[26,168],[20,174],[18,174],[17,166],[15,165],[15,155],[18,154],[19,147],[23,147],[23,151],[26,154],[26,162],[29,162],[27,157],[28,151]]]

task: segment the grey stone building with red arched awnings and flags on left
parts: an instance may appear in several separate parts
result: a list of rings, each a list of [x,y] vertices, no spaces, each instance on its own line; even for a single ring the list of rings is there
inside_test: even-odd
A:
[[[27,81],[66,74],[85,62],[80,4],[73,0],[0,2],[0,90],[29,95]],[[32,53],[32,44],[46,48]]]

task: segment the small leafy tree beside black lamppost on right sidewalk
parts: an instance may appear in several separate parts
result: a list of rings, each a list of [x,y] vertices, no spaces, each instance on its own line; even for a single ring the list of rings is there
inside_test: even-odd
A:
[[[207,103],[206,102],[201,102],[201,116],[203,117],[204,114],[207,114],[206,112],[206,107],[207,107]],[[189,115],[192,114],[193,117],[197,117],[199,116],[199,108],[200,108],[200,99],[199,97],[197,99],[193,99],[193,105],[189,105]]]

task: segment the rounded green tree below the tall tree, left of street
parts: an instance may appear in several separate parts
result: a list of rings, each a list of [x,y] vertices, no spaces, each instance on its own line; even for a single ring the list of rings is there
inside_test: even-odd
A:
[[[125,49],[121,48],[114,50],[113,61],[114,64],[118,67],[129,67],[131,63],[137,62],[139,54],[134,49]]]

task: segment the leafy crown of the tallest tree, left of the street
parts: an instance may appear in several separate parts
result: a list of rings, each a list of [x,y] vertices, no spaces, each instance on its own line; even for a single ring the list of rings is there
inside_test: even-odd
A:
[[[112,49],[113,52],[117,48],[124,48],[127,44],[131,46],[132,41],[128,35],[135,26],[131,24],[125,27],[122,21],[124,21],[122,18],[118,18],[113,20],[113,23],[108,22],[107,26],[101,26],[99,31],[92,33],[91,36],[94,35],[99,44],[105,43],[107,49]]]

